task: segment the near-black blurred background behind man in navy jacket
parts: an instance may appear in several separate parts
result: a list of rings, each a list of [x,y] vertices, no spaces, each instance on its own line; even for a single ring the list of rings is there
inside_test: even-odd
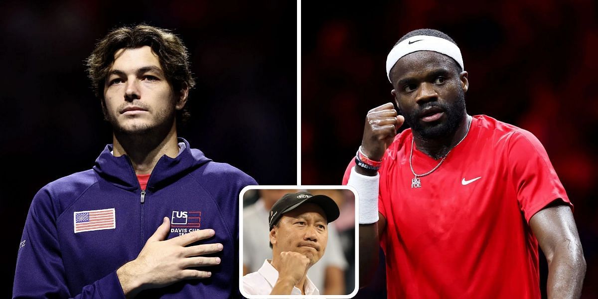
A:
[[[189,50],[197,87],[179,136],[260,184],[296,184],[296,2],[2,1],[0,297],[33,195],[90,169],[112,142],[84,60],[110,29],[139,22],[172,29]]]

